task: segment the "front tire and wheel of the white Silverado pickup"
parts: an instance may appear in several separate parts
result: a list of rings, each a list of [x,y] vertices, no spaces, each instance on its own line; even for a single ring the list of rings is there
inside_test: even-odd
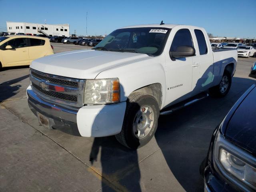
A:
[[[154,97],[132,93],[127,100],[122,130],[116,139],[131,149],[146,145],[156,132],[158,116],[159,106]]]

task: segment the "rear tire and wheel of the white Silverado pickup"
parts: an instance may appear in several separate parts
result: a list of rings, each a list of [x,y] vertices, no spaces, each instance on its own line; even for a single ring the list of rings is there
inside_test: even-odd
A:
[[[226,94],[228,94],[230,90],[230,86],[232,83],[232,77],[230,72],[227,70],[224,70],[224,74],[221,78],[220,84],[211,87],[209,89],[209,94],[212,97],[224,97]]]

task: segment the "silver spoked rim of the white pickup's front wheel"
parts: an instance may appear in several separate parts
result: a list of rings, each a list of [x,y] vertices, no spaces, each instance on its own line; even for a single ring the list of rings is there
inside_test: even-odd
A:
[[[148,135],[154,123],[154,112],[150,106],[143,106],[138,110],[133,122],[133,133],[142,139]]]

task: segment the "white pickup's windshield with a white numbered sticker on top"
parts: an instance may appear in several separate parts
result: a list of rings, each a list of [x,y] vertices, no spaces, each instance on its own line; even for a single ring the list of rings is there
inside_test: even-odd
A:
[[[169,32],[169,28],[160,27],[118,29],[106,36],[94,49],[158,56],[164,49]]]

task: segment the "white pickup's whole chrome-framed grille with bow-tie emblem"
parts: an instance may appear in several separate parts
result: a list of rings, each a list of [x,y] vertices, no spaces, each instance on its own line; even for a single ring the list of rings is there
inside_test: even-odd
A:
[[[43,100],[60,106],[82,107],[85,80],[46,74],[30,68],[32,90]]]

